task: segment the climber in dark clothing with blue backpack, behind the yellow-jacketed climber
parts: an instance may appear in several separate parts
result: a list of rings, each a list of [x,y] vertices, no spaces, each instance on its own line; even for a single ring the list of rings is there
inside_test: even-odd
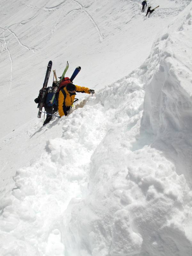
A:
[[[56,81],[53,81],[52,86],[47,87],[46,99],[44,102],[44,109],[47,113],[47,116],[46,116],[46,119],[45,119],[43,125],[45,125],[51,121],[52,115],[49,115],[49,114],[54,114],[55,112],[58,111],[57,100],[56,100],[57,97],[55,97],[55,99],[53,100],[53,104],[50,103],[50,101],[52,100],[52,96],[53,96],[53,89],[55,88],[56,85],[57,85]],[[42,93],[43,93],[43,89],[41,89],[39,91],[38,97],[34,100],[35,103],[39,103]]]

